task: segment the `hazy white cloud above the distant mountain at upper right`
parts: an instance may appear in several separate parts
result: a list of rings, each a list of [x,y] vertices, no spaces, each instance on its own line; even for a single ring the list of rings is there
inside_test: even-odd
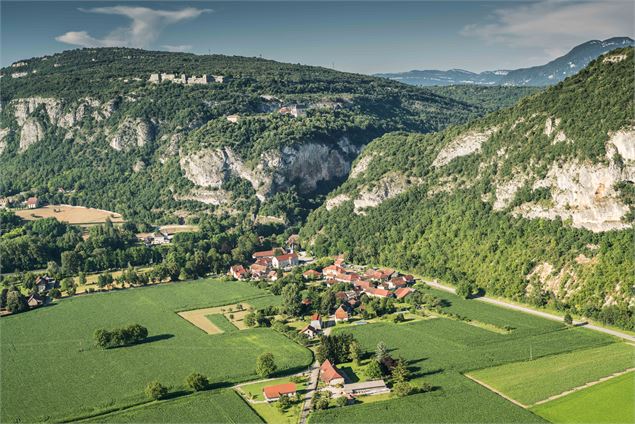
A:
[[[462,34],[510,47],[541,48],[554,58],[591,39],[633,37],[634,7],[630,0],[539,0],[497,9],[490,22],[468,25]]]

